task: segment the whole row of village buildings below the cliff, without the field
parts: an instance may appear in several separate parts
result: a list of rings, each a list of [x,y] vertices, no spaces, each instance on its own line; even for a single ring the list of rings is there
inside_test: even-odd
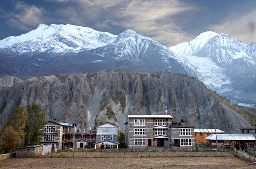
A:
[[[124,142],[118,142],[120,126],[113,123],[105,122],[96,126],[96,130],[85,131],[74,123],[48,120],[44,126],[41,145],[17,148],[16,157],[29,157],[27,152],[33,152],[36,147],[40,147],[40,155],[47,155],[61,151],[124,149],[245,151],[253,150],[256,145],[256,128],[240,128],[240,134],[226,134],[218,128],[187,126],[184,120],[176,122],[171,115],[128,115],[127,118],[128,121],[124,124]]]

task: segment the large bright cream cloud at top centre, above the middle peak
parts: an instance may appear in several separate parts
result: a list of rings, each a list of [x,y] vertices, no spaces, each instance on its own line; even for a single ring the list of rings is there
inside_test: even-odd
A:
[[[197,9],[177,0],[133,0],[127,8],[118,12],[118,16],[121,17],[120,24],[123,27],[129,27],[166,46],[172,46],[190,39],[171,19],[189,10]]]

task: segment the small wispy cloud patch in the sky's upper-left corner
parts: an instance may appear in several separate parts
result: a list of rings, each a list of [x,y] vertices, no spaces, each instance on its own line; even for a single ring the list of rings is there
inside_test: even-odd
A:
[[[32,27],[45,21],[44,8],[36,5],[28,5],[25,2],[15,2],[14,11],[9,13],[7,24],[11,27],[19,27],[22,30],[30,30]]]

